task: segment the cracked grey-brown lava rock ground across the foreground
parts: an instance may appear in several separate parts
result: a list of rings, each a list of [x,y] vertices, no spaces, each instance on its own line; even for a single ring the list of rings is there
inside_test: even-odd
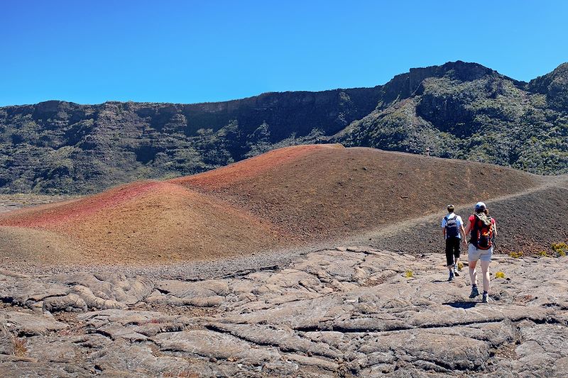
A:
[[[6,377],[565,377],[568,257],[496,256],[489,304],[439,254],[320,250],[182,281],[0,271]],[[410,276],[410,277],[409,277]]]

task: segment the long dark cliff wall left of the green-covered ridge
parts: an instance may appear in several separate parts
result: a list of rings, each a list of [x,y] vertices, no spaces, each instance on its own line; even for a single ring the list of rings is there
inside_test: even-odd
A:
[[[211,104],[8,106],[0,108],[0,191],[89,193],[202,172],[337,133],[377,101],[377,89],[364,88]]]

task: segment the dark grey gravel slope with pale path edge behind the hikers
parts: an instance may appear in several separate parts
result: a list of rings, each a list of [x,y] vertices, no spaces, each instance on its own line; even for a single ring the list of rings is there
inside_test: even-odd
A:
[[[547,199],[550,202],[543,207],[542,204],[547,204]],[[495,248],[498,253],[530,254],[547,250],[550,243],[568,240],[568,230],[560,226],[562,219],[568,217],[568,175],[545,177],[537,187],[484,201],[498,221],[499,236]],[[455,212],[466,221],[466,216],[472,213],[475,203],[454,204]],[[540,216],[532,226],[522,221],[530,219],[535,213],[548,214],[548,211],[552,211],[554,215]],[[443,243],[439,223],[446,214],[447,211],[444,210],[392,223],[345,238],[344,243],[373,245],[407,253],[440,252]],[[530,239],[534,243],[519,243],[519,239]],[[540,243],[535,243],[535,240],[540,240]]]

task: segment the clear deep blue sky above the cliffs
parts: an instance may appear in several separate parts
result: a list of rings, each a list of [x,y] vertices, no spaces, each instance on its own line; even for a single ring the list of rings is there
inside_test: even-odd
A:
[[[0,4],[0,106],[195,103],[373,87],[464,60],[528,81],[568,61],[568,1]]]

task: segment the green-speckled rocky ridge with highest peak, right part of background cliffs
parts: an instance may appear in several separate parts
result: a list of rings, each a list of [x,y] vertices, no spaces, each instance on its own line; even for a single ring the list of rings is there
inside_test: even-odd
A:
[[[354,121],[334,140],[413,153],[428,149],[439,157],[533,173],[565,173],[567,67],[530,83],[464,62],[411,70],[384,86],[408,84],[410,96],[395,97],[388,91],[386,98],[393,101]]]

